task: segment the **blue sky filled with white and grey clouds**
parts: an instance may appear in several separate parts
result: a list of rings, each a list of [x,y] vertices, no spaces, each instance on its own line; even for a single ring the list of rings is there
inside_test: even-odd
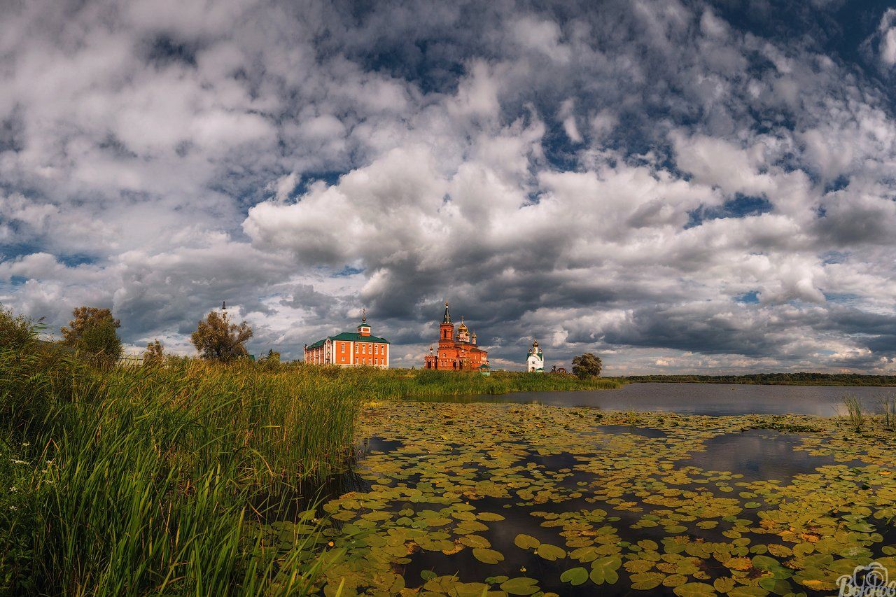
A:
[[[896,373],[896,8],[0,0],[0,303],[126,349]]]

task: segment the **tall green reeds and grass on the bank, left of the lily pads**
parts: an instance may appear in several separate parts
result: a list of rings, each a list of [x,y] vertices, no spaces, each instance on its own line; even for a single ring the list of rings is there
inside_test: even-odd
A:
[[[363,402],[614,385],[191,359],[98,368],[2,316],[27,333],[0,342],[0,594],[304,593],[316,539],[261,522],[345,465]]]

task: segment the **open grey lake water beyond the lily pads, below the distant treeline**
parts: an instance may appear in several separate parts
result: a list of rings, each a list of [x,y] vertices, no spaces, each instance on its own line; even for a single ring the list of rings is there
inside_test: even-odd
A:
[[[517,392],[478,396],[412,398],[425,402],[519,402],[586,406],[606,411],[669,411],[698,415],[842,414],[844,396],[854,395],[869,409],[893,387],[824,385],[626,384],[616,390],[584,392]]]

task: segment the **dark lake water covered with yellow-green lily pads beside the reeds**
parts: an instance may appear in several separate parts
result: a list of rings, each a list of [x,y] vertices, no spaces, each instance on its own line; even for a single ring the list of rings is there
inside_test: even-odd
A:
[[[319,497],[338,511],[340,532],[332,536],[347,549],[341,569],[390,594],[397,585],[377,583],[400,575],[401,586],[473,597],[485,585],[472,584],[496,591],[521,578],[559,595],[671,597],[685,583],[706,588],[737,577],[746,584],[763,574],[754,565],[773,567],[776,594],[834,594],[831,579],[840,569],[851,570],[862,554],[883,558],[883,546],[896,544],[896,525],[868,515],[881,507],[878,491],[896,491],[892,452],[860,459],[868,450],[878,454],[883,439],[844,436],[830,420],[790,432],[754,427],[777,418],[739,414],[826,416],[848,393],[870,404],[882,389],[636,384],[534,399],[388,401],[367,413],[356,471]],[[787,523],[766,527],[776,520]],[[797,544],[835,536],[836,543],[818,544],[832,556],[784,566]],[[559,556],[533,545],[559,549]],[[612,556],[618,580],[598,584],[594,562]],[[587,571],[588,580],[564,579],[575,570]],[[827,584],[811,590],[803,584],[811,575]],[[331,590],[339,582],[334,575]],[[453,593],[455,583],[470,585]]]

